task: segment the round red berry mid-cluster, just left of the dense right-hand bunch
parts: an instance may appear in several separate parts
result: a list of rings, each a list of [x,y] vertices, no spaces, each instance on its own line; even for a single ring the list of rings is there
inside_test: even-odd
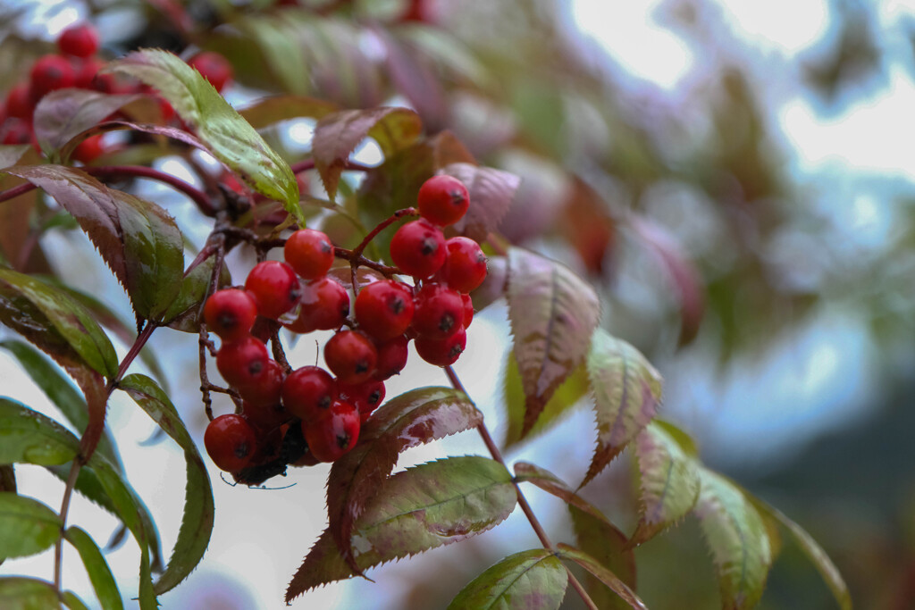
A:
[[[356,322],[381,341],[403,335],[413,311],[413,289],[394,280],[372,282],[356,297]]]

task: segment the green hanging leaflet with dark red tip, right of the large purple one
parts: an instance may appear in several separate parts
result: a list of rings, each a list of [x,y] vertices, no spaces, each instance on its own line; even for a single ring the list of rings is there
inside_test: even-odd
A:
[[[661,404],[661,375],[640,351],[597,328],[587,354],[597,415],[597,448],[582,486],[635,438]]]

